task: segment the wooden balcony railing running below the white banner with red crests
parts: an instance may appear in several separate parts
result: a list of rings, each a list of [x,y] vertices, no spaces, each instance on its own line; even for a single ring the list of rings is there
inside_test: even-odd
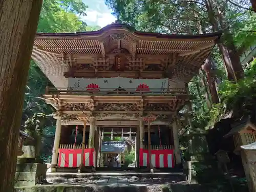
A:
[[[150,89],[150,91],[137,91],[136,89],[116,90],[116,88],[100,88],[100,90],[87,90],[87,88],[46,88],[46,95],[49,94],[74,94],[74,95],[184,95],[187,94],[185,89]]]

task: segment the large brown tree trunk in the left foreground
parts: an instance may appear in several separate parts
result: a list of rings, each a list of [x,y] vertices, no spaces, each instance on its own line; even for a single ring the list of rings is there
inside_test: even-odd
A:
[[[13,191],[25,84],[42,0],[0,1],[0,192]]]

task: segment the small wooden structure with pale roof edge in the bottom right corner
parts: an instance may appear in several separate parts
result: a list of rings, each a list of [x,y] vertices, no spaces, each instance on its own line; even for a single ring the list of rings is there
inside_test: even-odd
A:
[[[250,192],[256,192],[256,142],[241,146],[241,157]]]

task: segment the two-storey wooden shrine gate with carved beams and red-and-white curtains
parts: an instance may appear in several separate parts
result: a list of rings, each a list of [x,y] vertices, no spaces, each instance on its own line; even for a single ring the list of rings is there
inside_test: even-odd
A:
[[[54,86],[43,96],[56,110],[53,170],[81,161],[100,166],[103,129],[132,130],[140,166],[180,164],[186,83],[220,36],[140,32],[119,23],[91,32],[37,33],[32,58]],[[80,143],[67,139],[76,125]]]

